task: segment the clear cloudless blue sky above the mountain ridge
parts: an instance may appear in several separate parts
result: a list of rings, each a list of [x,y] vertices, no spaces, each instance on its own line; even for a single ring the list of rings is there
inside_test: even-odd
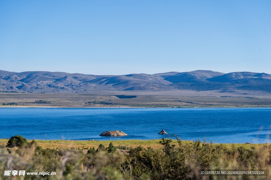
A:
[[[271,1],[0,1],[0,69],[271,73]]]

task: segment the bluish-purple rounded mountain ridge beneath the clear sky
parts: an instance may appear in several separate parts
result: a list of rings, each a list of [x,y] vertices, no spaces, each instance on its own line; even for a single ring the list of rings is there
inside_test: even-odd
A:
[[[271,92],[271,74],[210,70],[158,74],[92,75],[65,72],[0,70],[0,91],[86,93],[102,90],[258,90]]]

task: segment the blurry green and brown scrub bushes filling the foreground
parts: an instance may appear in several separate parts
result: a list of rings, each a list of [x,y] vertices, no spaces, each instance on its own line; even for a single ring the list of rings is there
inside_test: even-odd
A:
[[[16,136],[15,136],[16,137]],[[20,137],[20,136],[19,136]],[[13,138],[14,139],[14,138]],[[0,179],[9,169],[26,172],[56,172],[57,175],[25,176],[25,179],[270,179],[271,146],[255,148],[222,144],[183,142],[172,145],[162,139],[163,148],[43,149],[32,141],[20,151],[0,147]],[[119,149],[118,149],[119,148]],[[267,176],[199,176],[199,169],[267,169]],[[18,178],[18,177],[17,177]]]

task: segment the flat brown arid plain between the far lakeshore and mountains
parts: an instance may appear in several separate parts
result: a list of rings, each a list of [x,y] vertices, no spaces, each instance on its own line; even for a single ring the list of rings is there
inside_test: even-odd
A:
[[[0,107],[271,107],[271,96],[259,91],[189,90],[0,93]]]

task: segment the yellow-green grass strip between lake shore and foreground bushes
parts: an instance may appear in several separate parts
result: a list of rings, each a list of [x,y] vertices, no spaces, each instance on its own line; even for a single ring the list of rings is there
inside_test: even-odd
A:
[[[31,140],[28,140],[29,142]],[[159,139],[157,140],[112,140],[112,141],[72,141],[72,140],[36,140],[38,145],[42,148],[50,148],[50,149],[70,149],[70,148],[98,148],[99,144],[103,144],[105,147],[108,147],[109,143],[112,142],[115,146],[118,145],[127,145],[128,147],[137,147],[142,146],[143,148],[152,147],[154,149],[162,148],[163,145],[159,143]],[[1,144],[7,144],[8,139],[0,139]],[[192,143],[191,141],[182,141],[183,143]],[[178,144],[177,140],[173,140],[172,144]],[[217,145],[217,144],[214,144]],[[226,148],[231,148],[233,144],[223,144]],[[264,144],[234,144],[236,148],[243,146],[246,149],[251,149],[251,147],[255,147],[256,150],[263,147]]]

